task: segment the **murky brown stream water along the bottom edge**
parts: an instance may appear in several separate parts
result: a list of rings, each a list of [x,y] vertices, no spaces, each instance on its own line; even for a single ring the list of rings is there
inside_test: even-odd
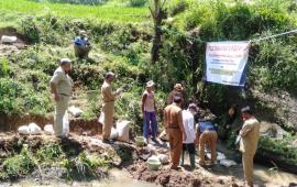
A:
[[[241,166],[226,169],[223,167],[219,167],[221,169],[208,170],[212,174],[218,175],[232,175],[237,178],[242,179],[243,173]],[[155,184],[150,184],[145,182],[140,182],[131,178],[128,172],[123,169],[111,169],[110,177],[102,180],[92,180],[88,183],[78,183],[75,182],[73,184],[64,184],[61,182],[48,182],[46,185],[40,185],[32,180],[21,180],[16,184],[0,184],[0,187],[156,187]],[[271,172],[268,167],[255,165],[254,169],[255,184],[257,186],[265,187],[278,187],[278,186],[288,186],[289,183],[297,183],[297,175],[285,173],[282,170]]]

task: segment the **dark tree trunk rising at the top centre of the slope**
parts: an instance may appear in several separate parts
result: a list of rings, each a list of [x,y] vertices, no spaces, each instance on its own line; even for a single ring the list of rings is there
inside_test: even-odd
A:
[[[151,11],[151,15],[154,22],[154,38],[153,38],[153,46],[152,46],[152,63],[156,63],[160,57],[160,47],[161,47],[161,37],[162,37],[162,19],[164,18],[165,10],[164,4],[166,0],[152,0],[151,6],[148,7]]]

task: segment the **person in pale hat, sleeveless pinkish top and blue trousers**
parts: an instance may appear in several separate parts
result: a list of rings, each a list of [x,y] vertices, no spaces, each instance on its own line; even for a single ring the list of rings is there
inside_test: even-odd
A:
[[[143,114],[143,136],[148,140],[148,131],[151,129],[152,140],[156,141],[157,121],[156,121],[156,105],[154,96],[155,82],[150,80],[146,82],[146,89],[142,95],[141,110]]]

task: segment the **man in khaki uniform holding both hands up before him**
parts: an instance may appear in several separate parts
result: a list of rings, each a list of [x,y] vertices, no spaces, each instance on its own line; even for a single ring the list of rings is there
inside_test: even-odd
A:
[[[102,136],[105,143],[110,143],[110,133],[113,125],[114,101],[116,97],[122,92],[122,88],[119,88],[116,92],[112,91],[111,82],[113,79],[114,74],[107,73],[105,82],[101,87],[103,106],[99,122],[103,124]]]

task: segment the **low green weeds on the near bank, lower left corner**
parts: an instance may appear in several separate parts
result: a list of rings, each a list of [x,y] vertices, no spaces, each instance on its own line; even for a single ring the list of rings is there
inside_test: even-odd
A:
[[[63,150],[63,143],[59,142],[31,141],[32,144],[21,142],[22,150],[20,153],[15,148],[13,150],[15,153],[10,153],[10,156],[1,158],[3,161],[0,160],[0,182],[18,179],[33,170],[42,170],[52,166],[61,168],[65,180],[100,179],[108,175],[111,163],[109,156],[88,153],[84,150],[74,156],[73,148],[77,147],[69,147],[68,145],[66,150]],[[36,147],[34,144],[38,146]],[[109,154],[117,155],[116,152]]]

